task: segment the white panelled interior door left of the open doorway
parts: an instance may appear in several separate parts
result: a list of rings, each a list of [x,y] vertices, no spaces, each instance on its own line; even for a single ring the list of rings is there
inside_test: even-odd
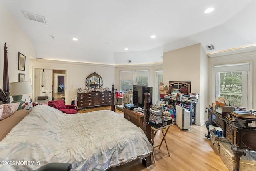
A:
[[[37,68],[35,73],[35,97],[48,95],[52,99],[52,70]]]

